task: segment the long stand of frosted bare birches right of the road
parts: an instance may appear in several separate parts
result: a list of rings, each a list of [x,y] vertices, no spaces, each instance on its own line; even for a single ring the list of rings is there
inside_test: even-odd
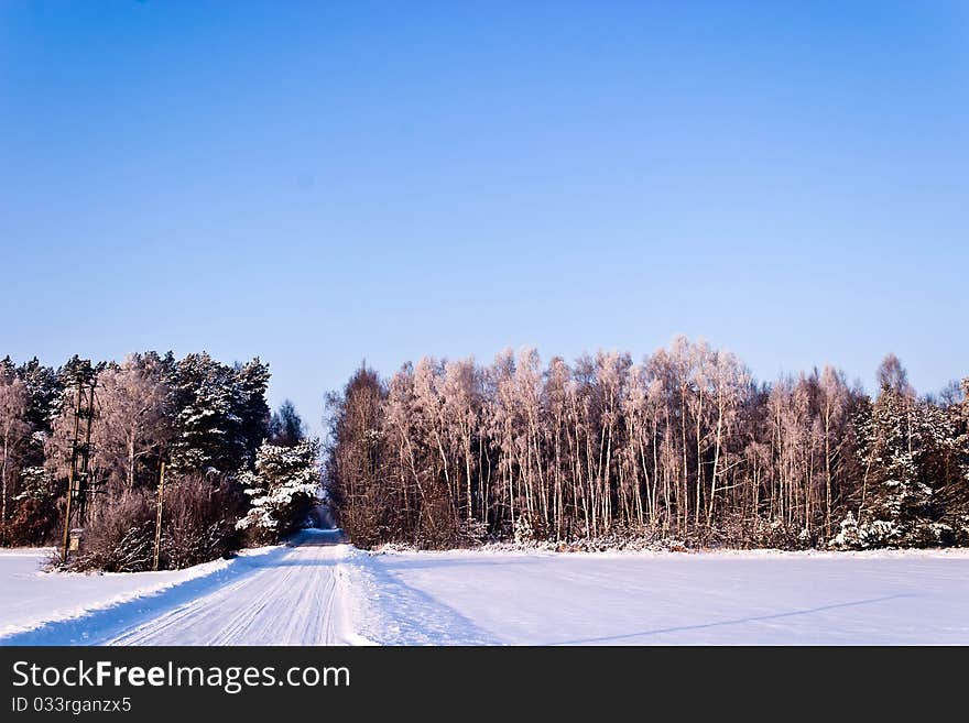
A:
[[[773,384],[678,338],[359,369],[328,396],[326,480],[358,545],[937,546],[969,541],[969,380],[867,395],[831,366]]]

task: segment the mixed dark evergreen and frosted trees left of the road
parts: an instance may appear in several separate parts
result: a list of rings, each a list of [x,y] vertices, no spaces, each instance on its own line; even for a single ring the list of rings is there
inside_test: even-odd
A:
[[[94,387],[92,490],[76,569],[153,562],[166,464],[162,567],[213,559],[303,523],[318,494],[318,442],[292,403],[271,414],[269,366],[137,353],[54,369],[0,360],[0,543],[42,545],[64,524],[78,386]],[[253,512],[255,511],[255,512]]]

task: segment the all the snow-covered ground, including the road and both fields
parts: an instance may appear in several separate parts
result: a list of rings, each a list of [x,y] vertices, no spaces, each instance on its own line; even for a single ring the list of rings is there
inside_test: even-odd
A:
[[[0,552],[0,645],[969,644],[969,551],[407,552],[307,533],[178,572]]]

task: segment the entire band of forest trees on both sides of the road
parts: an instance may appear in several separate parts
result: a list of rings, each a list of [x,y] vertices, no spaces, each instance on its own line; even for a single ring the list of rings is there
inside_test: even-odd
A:
[[[162,462],[162,567],[281,539],[320,484],[362,547],[969,543],[969,380],[918,396],[893,355],[873,396],[830,366],[760,383],[686,339],[638,363],[364,365],[327,396],[323,449],[291,403],[270,412],[269,381],[206,353],[0,360],[0,544],[59,535],[78,384],[99,484],[77,569],[152,565]]]

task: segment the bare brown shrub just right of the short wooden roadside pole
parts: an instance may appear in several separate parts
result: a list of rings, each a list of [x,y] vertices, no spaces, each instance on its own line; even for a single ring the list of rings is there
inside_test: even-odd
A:
[[[190,474],[165,485],[160,567],[181,569],[239,547],[236,521],[244,499],[221,475]]]

